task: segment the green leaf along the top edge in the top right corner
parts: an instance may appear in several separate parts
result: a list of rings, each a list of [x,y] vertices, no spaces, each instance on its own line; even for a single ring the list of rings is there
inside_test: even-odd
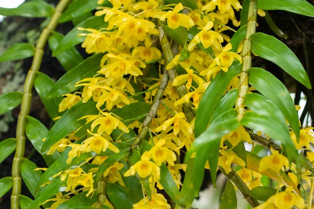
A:
[[[261,10],[283,10],[314,17],[314,7],[305,0],[258,0],[256,8]]]

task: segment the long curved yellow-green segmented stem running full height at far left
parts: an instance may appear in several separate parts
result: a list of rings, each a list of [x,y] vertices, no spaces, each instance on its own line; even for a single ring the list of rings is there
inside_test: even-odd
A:
[[[61,17],[62,12],[68,6],[71,0],[61,0],[57,5],[55,12],[48,24],[48,26],[42,31],[39,40],[36,45],[36,50],[34,54],[34,59],[32,66],[27,74],[24,90],[23,90],[23,97],[21,103],[21,111],[18,118],[17,124],[17,131],[16,131],[16,138],[17,138],[17,148],[15,152],[15,156],[13,158],[12,164],[12,194],[11,194],[11,208],[18,209],[19,206],[19,195],[21,194],[21,159],[24,157],[25,152],[25,125],[26,125],[26,116],[30,112],[31,100],[32,100],[32,88],[34,84],[34,80],[36,77],[36,72],[39,71],[43,54],[44,54],[44,47],[47,43],[49,35],[51,31],[55,30],[59,18]]]

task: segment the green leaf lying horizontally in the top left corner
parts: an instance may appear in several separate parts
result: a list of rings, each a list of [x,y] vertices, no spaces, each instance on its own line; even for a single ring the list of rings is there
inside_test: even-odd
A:
[[[46,18],[51,17],[54,11],[55,9],[50,4],[41,0],[33,0],[26,2],[17,8],[0,8],[0,15]]]

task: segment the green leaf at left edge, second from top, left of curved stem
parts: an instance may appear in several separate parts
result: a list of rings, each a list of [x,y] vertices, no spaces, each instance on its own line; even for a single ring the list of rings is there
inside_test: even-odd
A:
[[[0,8],[1,9],[1,8]],[[23,60],[25,58],[33,57],[35,47],[29,43],[18,43],[9,47],[2,55],[0,55],[0,62]]]

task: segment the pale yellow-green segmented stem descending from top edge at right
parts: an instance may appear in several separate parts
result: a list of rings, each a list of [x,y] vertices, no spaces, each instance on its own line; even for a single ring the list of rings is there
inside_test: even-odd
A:
[[[252,41],[249,40],[250,36],[256,31],[256,19],[257,19],[257,9],[256,9],[257,0],[251,0],[249,5],[248,12],[248,22],[247,22],[247,31],[245,34],[245,40],[243,43],[242,50],[242,69],[240,74],[240,88],[239,94],[236,101],[236,110],[237,110],[237,118],[240,121],[245,113],[244,109],[244,97],[249,89],[249,74],[247,70],[252,67],[252,57],[251,57],[251,46]]]

